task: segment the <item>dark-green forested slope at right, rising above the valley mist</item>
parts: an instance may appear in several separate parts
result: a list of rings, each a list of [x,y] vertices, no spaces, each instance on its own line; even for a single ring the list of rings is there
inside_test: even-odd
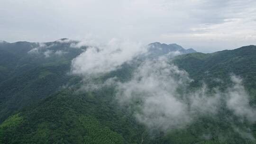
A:
[[[244,84],[250,92],[256,93],[255,45],[212,54],[180,55],[174,59],[174,63],[189,72],[197,84],[199,81],[205,81],[210,87],[226,87],[230,83],[229,74],[233,73],[243,78]]]

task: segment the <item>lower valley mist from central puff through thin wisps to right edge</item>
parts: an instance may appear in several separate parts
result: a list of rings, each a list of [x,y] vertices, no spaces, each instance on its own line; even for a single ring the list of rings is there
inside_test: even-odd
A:
[[[136,109],[137,119],[150,128],[182,128],[206,115],[217,117],[223,108],[233,111],[241,122],[255,122],[256,109],[249,105],[242,80],[234,75],[231,80],[234,86],[225,91],[215,88],[210,92],[205,84],[191,91],[193,80],[188,73],[162,57],[142,63],[130,81],[119,82],[117,99],[121,105]]]

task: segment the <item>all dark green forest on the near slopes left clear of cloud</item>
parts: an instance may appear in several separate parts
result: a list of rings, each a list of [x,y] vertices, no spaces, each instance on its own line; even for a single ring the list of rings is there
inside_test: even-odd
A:
[[[40,46],[37,43],[0,44],[0,144],[255,144],[230,126],[225,118],[228,111],[163,133],[138,123],[131,109],[117,103],[115,89],[79,91],[81,78],[68,72],[82,49],[72,43],[77,42],[46,43],[42,47],[49,47],[36,53],[29,51]],[[55,54],[60,50],[66,53]],[[192,88],[201,81],[224,88],[230,73],[242,77],[251,104],[256,104],[256,46],[185,54],[173,62],[195,80]],[[101,79],[117,76],[126,81],[135,68],[125,63]],[[244,125],[241,128],[246,131],[249,126],[248,133],[256,137],[256,125]]]

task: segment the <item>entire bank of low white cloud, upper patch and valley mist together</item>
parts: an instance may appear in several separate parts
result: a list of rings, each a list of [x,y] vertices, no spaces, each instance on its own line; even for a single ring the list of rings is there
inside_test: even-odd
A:
[[[239,129],[233,121],[233,116],[240,123],[256,121],[256,109],[249,104],[249,95],[241,78],[231,75],[232,86],[226,90],[209,89],[207,84],[194,90],[190,86],[193,80],[172,63],[170,54],[155,59],[144,58],[140,63],[131,61],[140,54],[146,55],[146,47],[113,39],[108,45],[87,48],[73,59],[71,72],[84,78],[84,90],[114,86],[120,106],[128,106],[137,120],[149,128],[163,131],[184,128],[200,117],[219,117],[225,110],[232,113],[225,117],[230,120],[230,125],[234,125],[235,132],[241,135],[250,132],[247,127],[244,128],[246,131]],[[104,74],[122,68],[124,63],[138,65],[131,79],[119,81],[115,76],[100,79]],[[95,78],[100,81],[95,82]]]

